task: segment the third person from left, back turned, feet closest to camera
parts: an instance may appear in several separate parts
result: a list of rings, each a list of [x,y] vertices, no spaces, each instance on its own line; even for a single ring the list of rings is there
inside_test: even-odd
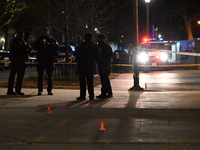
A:
[[[77,60],[77,74],[79,76],[80,96],[77,100],[86,100],[86,82],[89,99],[94,99],[94,74],[96,72],[96,61],[99,59],[99,49],[91,41],[92,34],[85,34],[85,41],[77,46],[75,58]]]

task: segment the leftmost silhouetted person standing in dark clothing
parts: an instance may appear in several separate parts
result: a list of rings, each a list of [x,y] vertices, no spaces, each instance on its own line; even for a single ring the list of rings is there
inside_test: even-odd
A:
[[[24,32],[22,30],[16,33],[16,36],[10,42],[10,61],[11,69],[8,79],[7,95],[24,95],[21,92],[24,79],[28,54],[31,49],[24,41]],[[15,75],[17,74],[15,92],[13,91]]]

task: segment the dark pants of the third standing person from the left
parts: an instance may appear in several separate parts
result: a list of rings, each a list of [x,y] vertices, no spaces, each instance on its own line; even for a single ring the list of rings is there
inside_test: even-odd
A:
[[[88,87],[89,98],[94,98],[94,75],[87,73],[79,74],[79,84],[80,84],[80,97],[86,96],[86,83]]]

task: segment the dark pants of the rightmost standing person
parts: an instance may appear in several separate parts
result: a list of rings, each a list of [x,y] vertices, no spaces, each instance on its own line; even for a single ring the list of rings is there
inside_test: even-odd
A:
[[[101,95],[112,94],[109,73],[99,73],[99,76],[101,80]]]

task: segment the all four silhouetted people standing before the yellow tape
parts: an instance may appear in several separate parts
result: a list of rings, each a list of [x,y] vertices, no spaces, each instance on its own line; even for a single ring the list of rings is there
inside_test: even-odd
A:
[[[105,42],[104,35],[98,35],[97,44],[92,42],[92,34],[85,35],[85,41],[79,44],[75,50],[75,58],[77,61],[77,74],[79,76],[80,96],[78,101],[86,100],[86,90],[88,89],[89,99],[95,98],[94,94],[94,74],[98,70],[101,80],[101,94],[97,98],[111,98],[113,92],[109,80],[112,65],[112,49]],[[29,47],[24,40],[24,32],[22,30],[16,33],[16,36],[10,42],[10,61],[11,69],[8,79],[7,95],[25,95],[21,92],[22,82],[24,79],[26,61],[31,50],[37,51],[37,73],[38,81],[37,95],[42,95],[44,73],[47,74],[47,93],[53,95],[53,70],[54,62],[57,61],[59,45],[58,42],[50,36],[49,29],[44,28],[43,34],[36,39],[32,47]],[[98,68],[98,69],[97,69]],[[14,81],[17,75],[15,92]]]

